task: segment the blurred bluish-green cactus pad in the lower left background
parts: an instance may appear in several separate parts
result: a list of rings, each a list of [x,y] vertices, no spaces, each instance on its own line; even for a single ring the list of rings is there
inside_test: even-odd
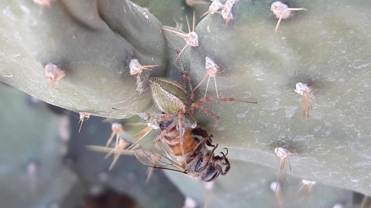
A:
[[[3,83],[0,97],[0,207],[58,206],[77,181],[63,162],[65,118]]]

